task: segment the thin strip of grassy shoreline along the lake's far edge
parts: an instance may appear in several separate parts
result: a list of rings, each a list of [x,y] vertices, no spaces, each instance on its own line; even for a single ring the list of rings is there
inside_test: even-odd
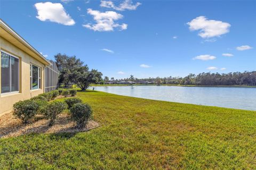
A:
[[[256,88],[256,86],[206,86],[206,85],[181,85],[181,84],[91,84],[90,86],[177,86],[177,87],[245,87],[245,88]]]

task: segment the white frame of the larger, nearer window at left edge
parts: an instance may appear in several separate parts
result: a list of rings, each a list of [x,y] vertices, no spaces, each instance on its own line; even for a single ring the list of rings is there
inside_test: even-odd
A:
[[[0,56],[0,60],[2,60],[2,53],[5,53],[5,54],[7,54],[7,55],[10,55],[11,57],[13,57],[13,58],[17,58],[18,59],[18,61],[19,61],[19,64],[18,64],[18,90],[16,90],[16,91],[12,91],[12,66],[11,66],[11,57],[9,58],[9,70],[10,70],[10,78],[9,78],[9,82],[10,82],[10,92],[2,92],[2,85],[1,85],[1,96],[2,95],[9,95],[9,94],[17,94],[17,93],[19,93],[20,92],[20,57],[17,57],[17,56],[15,56],[15,55],[13,55],[13,54],[11,54],[11,53],[8,53],[8,52],[6,52],[5,50],[1,50],[1,56]],[[1,63],[1,65],[2,65],[2,63]],[[2,69],[2,67],[1,67],[1,69]],[[1,70],[1,74],[2,74],[2,70]],[[2,79],[2,75],[1,75],[1,79]]]

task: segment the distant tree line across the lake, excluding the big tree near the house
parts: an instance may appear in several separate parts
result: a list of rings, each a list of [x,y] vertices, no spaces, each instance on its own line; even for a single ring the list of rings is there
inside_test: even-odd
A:
[[[109,81],[108,77],[104,80]],[[199,73],[189,74],[186,77],[165,77],[165,78],[147,78],[137,79],[133,75],[130,78],[115,80],[111,78],[111,81],[134,81],[135,83],[154,83],[154,84],[181,84],[181,85],[199,85],[199,86],[256,86],[256,71],[252,72],[234,72],[234,73]],[[110,81],[110,82],[111,82]]]

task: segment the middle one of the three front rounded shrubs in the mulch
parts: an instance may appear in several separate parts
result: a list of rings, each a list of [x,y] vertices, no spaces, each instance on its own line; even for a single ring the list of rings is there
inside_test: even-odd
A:
[[[53,101],[48,103],[41,109],[41,113],[46,119],[49,119],[49,126],[52,126],[57,116],[67,108],[67,104],[61,101]]]

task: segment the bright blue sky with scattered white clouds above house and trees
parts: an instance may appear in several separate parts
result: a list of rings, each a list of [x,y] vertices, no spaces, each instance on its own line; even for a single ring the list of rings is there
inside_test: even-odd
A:
[[[256,71],[256,1],[0,1],[47,59],[75,55],[115,79]]]

